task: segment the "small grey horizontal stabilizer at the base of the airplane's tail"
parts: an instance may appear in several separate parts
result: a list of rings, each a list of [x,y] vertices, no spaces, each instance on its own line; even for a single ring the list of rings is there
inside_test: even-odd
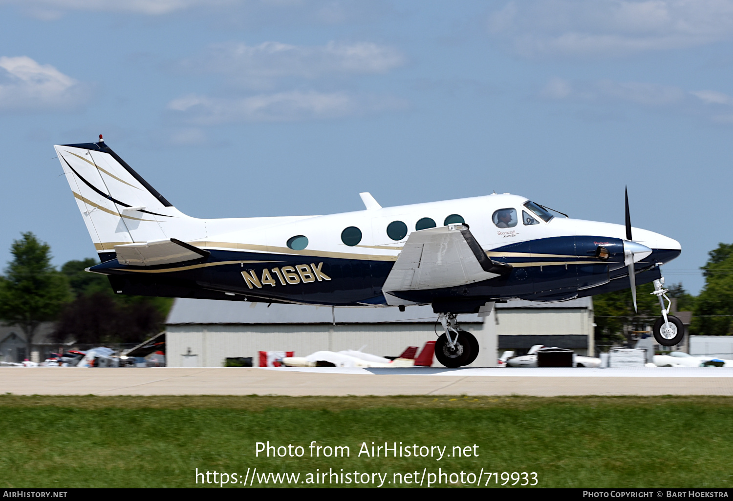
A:
[[[115,245],[117,261],[130,266],[173,264],[209,256],[210,252],[171,238],[132,244]]]

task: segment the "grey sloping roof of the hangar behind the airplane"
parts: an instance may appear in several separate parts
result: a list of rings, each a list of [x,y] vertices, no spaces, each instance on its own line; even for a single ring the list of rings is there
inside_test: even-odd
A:
[[[254,307],[252,307],[254,305]],[[498,308],[592,308],[590,298],[562,303],[509,301]],[[339,324],[432,323],[437,316],[430,305],[397,308],[334,308],[328,306],[245,303],[226,300],[199,300],[180,297],[175,300],[166,324]],[[460,322],[483,323],[476,313],[460,315]]]

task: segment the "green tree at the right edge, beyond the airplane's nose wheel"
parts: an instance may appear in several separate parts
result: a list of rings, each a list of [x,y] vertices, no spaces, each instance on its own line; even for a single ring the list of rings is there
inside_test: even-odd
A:
[[[733,244],[718,244],[701,267],[705,286],[695,302],[690,331],[704,335],[733,334]]]

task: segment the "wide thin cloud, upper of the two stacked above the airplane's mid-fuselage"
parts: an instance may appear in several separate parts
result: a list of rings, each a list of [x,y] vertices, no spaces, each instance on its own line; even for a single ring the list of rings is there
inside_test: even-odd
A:
[[[324,75],[386,73],[405,62],[397,49],[372,42],[303,46],[280,42],[259,45],[214,45],[205,53],[186,59],[186,70],[229,75],[259,86],[274,78],[319,78]]]

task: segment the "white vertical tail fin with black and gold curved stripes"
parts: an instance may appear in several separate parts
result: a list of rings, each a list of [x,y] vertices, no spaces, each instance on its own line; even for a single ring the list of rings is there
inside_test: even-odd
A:
[[[54,148],[102,261],[114,258],[114,245],[183,237],[177,227],[190,218],[133,171],[101,136],[97,143]]]

